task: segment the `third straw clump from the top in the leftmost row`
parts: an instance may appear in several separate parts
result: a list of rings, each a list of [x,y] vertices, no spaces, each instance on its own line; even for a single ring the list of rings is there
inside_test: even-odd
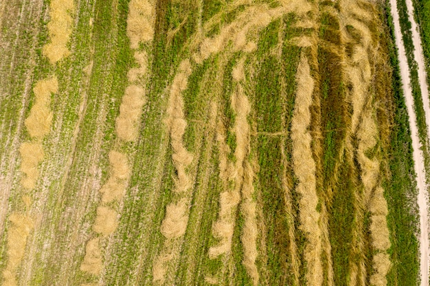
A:
[[[20,171],[24,176],[21,178],[21,185],[25,189],[34,189],[38,178],[38,164],[43,160],[43,147],[41,143],[25,142],[19,147],[21,155]]]

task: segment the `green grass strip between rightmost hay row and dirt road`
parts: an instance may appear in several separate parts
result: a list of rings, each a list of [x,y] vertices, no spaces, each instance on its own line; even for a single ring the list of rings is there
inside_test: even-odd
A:
[[[387,275],[388,285],[418,285],[418,191],[412,156],[409,116],[405,105],[397,49],[394,45],[394,23],[385,5],[387,29],[391,40],[387,40],[389,60],[392,65],[393,127],[389,147],[389,171],[391,177],[385,181],[385,199],[388,204],[387,223],[391,234],[392,248],[389,250],[392,269]],[[388,34],[388,33],[387,33]]]

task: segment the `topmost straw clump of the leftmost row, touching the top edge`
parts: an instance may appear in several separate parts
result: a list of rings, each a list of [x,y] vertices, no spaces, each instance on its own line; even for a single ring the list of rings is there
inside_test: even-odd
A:
[[[51,21],[47,28],[51,42],[43,47],[43,55],[49,59],[51,64],[56,64],[70,54],[67,43],[73,28],[71,15],[74,11],[75,6],[72,0],[52,0],[49,3]]]

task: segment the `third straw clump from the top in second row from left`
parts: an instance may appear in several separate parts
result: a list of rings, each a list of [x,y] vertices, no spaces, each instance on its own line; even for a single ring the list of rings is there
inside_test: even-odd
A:
[[[130,142],[137,139],[140,117],[145,103],[144,88],[137,85],[127,86],[122,97],[120,115],[118,115],[115,122],[117,135],[123,141]]]

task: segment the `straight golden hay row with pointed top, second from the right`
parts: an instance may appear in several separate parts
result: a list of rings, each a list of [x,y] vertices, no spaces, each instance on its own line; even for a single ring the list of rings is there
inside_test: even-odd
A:
[[[296,77],[297,92],[291,122],[291,139],[293,139],[293,168],[299,180],[296,191],[301,195],[299,199],[300,228],[304,231],[308,241],[304,249],[304,259],[308,265],[306,281],[308,281],[308,285],[321,285],[323,269],[320,215],[317,211],[315,162],[310,148],[312,139],[307,132],[310,124],[309,108],[313,101],[314,80],[310,76],[310,67],[304,55],[297,67]]]

